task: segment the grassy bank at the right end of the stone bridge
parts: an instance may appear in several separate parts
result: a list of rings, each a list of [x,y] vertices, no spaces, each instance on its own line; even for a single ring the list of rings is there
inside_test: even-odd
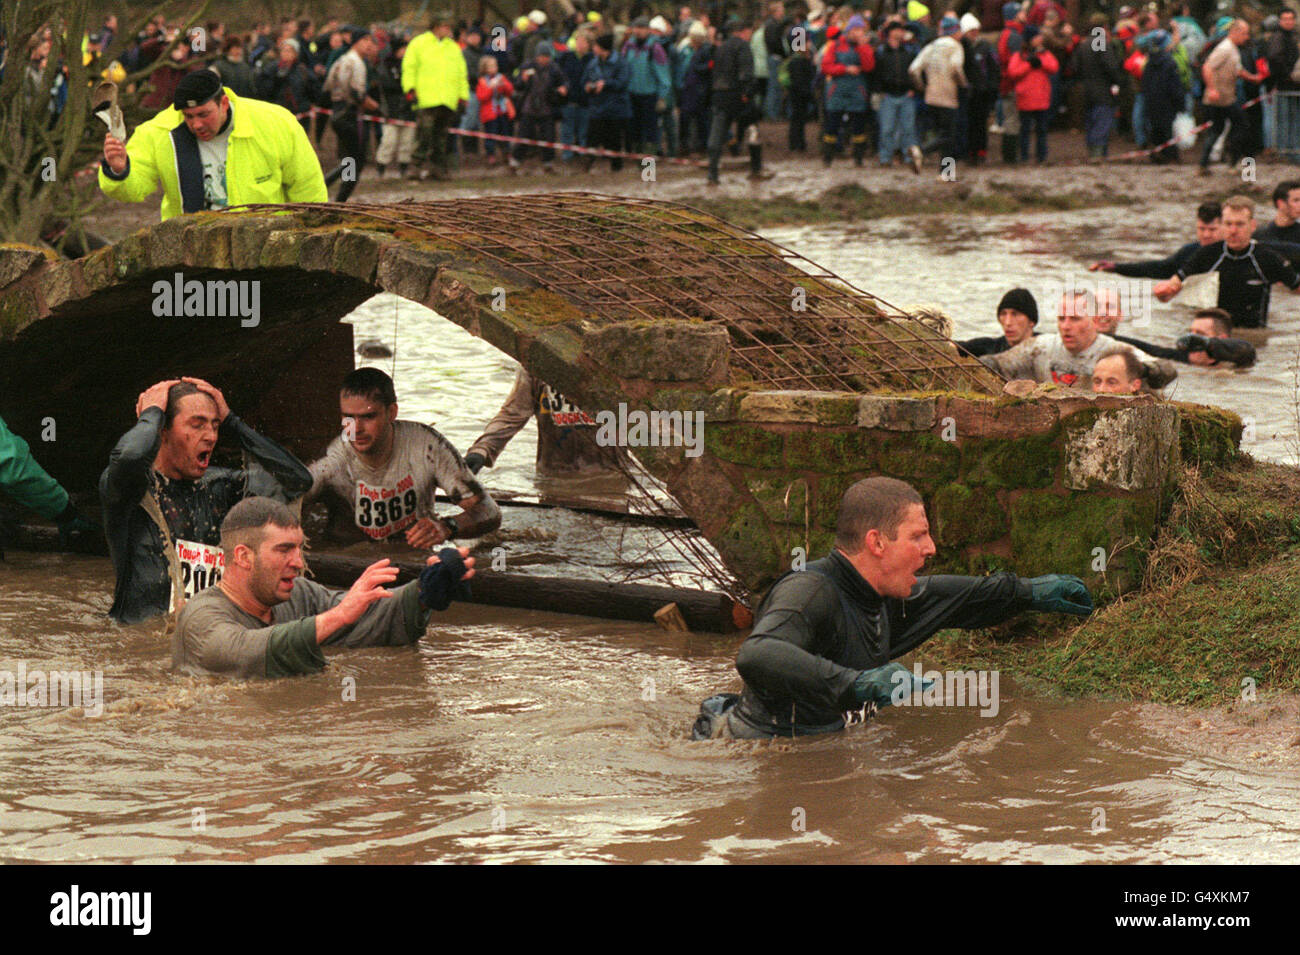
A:
[[[948,630],[926,668],[997,669],[1044,695],[1214,706],[1300,693],[1300,470],[1238,459],[1183,474],[1143,589],[1072,626],[1026,615]]]

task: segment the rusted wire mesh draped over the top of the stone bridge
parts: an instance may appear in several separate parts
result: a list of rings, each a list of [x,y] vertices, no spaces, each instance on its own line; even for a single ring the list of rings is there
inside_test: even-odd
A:
[[[776,243],[677,203],[560,192],[299,204],[373,220],[524,273],[593,322],[703,320],[732,338],[732,383],[815,391],[997,394],[944,335]]]

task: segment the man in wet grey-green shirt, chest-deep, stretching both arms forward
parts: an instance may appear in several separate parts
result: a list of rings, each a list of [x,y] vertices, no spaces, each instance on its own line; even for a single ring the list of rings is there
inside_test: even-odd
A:
[[[247,498],[221,524],[226,573],[186,603],[172,635],[172,664],[191,674],[287,677],[325,669],[322,646],[415,643],[430,611],[443,611],[474,576],[469,550],[446,547],[420,578],[385,589],[398,568],[370,564],[350,590],[329,590],[303,572],[303,529],[283,504]]]

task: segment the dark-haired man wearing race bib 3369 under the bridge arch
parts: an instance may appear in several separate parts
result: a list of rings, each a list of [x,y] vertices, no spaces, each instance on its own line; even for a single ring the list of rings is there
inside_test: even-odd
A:
[[[455,538],[482,537],[500,526],[500,508],[460,452],[417,421],[398,421],[393,379],[377,368],[351,372],[339,388],[343,434],[311,465],[304,504],[324,499],[332,528],[370,541],[406,539],[430,550]],[[442,487],[464,511],[437,515]]]

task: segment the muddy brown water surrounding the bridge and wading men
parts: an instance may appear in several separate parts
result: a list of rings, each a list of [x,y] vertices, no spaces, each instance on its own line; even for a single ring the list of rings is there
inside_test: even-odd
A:
[[[1035,256],[1084,261],[1075,231],[1132,255],[1180,240],[1179,223],[1130,233],[1095,214],[966,222],[942,255],[933,236],[897,222],[874,230],[883,249],[864,234],[772,236],[892,301],[937,301],[959,334],[979,334],[992,331],[997,295],[1032,275]],[[923,278],[902,277],[898,261]],[[1157,329],[1171,337],[1182,318],[1162,314]],[[1273,364],[1278,331],[1294,330],[1297,314],[1292,303],[1275,309],[1256,372],[1186,376],[1183,387],[1265,413],[1287,382]],[[393,343],[394,317],[403,414],[465,447],[510,390],[510,361],[387,298],[354,316],[358,340]],[[533,479],[532,431],[488,472],[493,487],[554,491]],[[636,573],[616,521],[506,516],[512,569]],[[108,624],[110,583],[100,559],[10,552],[0,563],[0,672],[98,669],[105,703],[99,717],[0,707],[0,860],[1290,861],[1300,852],[1294,769],[1253,760],[1248,746],[1209,756],[1195,734],[1169,742],[1156,730],[1186,721],[1175,709],[1028,698],[1002,674],[994,716],[898,708],[833,738],[693,743],[699,700],[737,686],[737,638],[455,607],[417,648],[332,654],[316,677],[225,683],[173,674],[157,628]]]

